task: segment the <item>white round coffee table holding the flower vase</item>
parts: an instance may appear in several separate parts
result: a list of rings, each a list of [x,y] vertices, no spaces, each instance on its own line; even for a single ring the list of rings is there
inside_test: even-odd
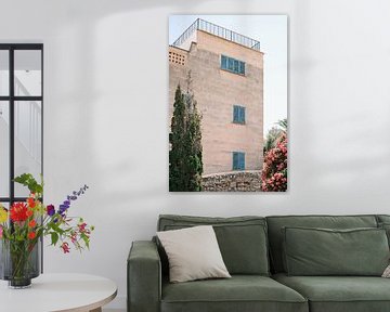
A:
[[[6,312],[87,312],[102,307],[117,295],[116,284],[87,274],[41,274],[30,288],[10,289],[0,282],[0,310]]]

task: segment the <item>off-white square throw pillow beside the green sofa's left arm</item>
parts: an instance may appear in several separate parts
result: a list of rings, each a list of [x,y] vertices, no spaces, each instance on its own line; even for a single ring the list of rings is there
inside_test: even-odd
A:
[[[171,283],[231,277],[211,225],[157,232],[169,260]]]

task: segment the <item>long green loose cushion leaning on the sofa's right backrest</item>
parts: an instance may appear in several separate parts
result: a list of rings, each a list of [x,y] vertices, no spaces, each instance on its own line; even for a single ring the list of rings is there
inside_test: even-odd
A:
[[[288,275],[381,276],[389,264],[384,229],[284,227]]]

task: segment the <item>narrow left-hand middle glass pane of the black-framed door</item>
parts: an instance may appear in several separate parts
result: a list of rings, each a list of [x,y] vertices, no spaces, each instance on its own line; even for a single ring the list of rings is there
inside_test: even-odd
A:
[[[9,197],[10,181],[10,106],[0,101],[0,197]]]

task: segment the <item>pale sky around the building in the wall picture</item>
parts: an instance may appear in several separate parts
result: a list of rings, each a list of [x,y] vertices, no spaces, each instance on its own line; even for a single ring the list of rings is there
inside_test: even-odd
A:
[[[287,15],[170,15],[169,44],[196,18],[260,41],[264,52],[264,136],[287,118]]]

